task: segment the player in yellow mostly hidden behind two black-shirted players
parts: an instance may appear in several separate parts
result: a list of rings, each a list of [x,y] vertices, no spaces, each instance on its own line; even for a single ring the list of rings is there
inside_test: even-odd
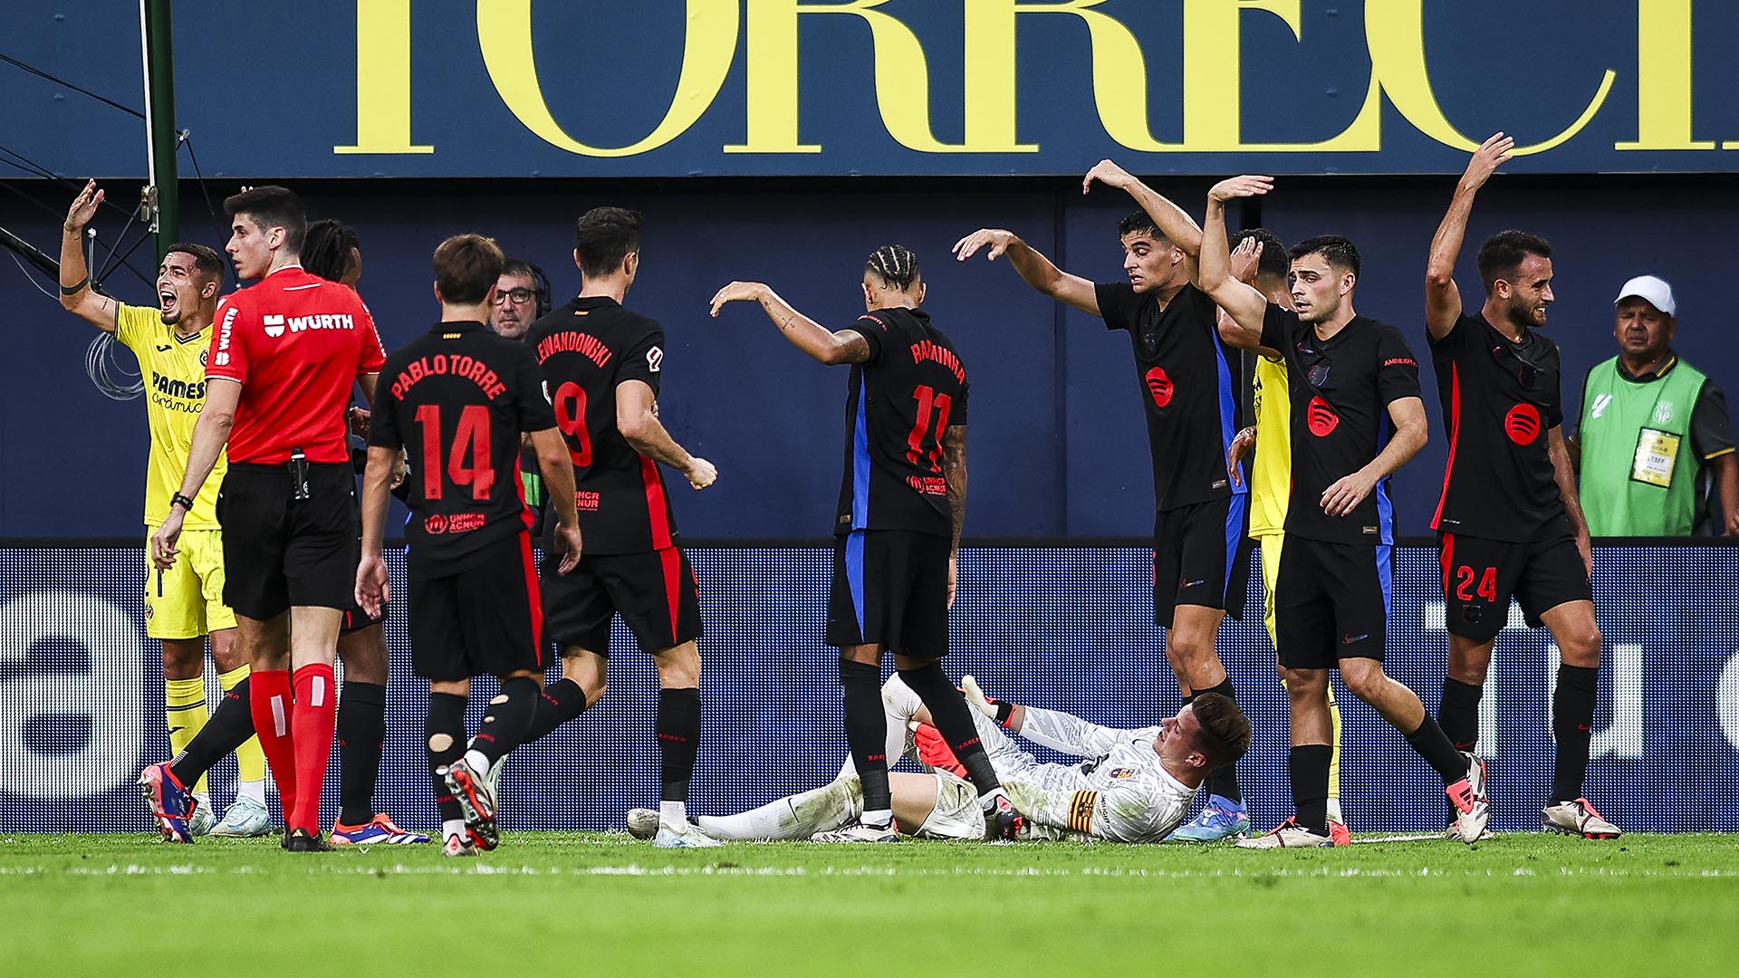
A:
[[[1268,296],[1269,303],[1292,308],[1292,289],[1287,284],[1290,263],[1287,247],[1266,228],[1236,231],[1231,235],[1235,245],[1231,270],[1240,280],[1254,285]],[[1219,313],[1221,329],[1229,320]],[[1231,325],[1236,329],[1236,325]],[[1256,425],[1238,432],[1231,444],[1231,472],[1238,472],[1236,461],[1256,445],[1256,459],[1250,465],[1250,538],[1256,539],[1263,553],[1263,621],[1268,625],[1268,639],[1275,637],[1275,579],[1280,576],[1280,548],[1285,543],[1287,499],[1292,494],[1292,402],[1287,397],[1287,365],[1273,350],[1263,350],[1256,357],[1256,378],[1250,385],[1250,404],[1256,409]],[[1236,479],[1236,475],[1235,475]],[[1341,707],[1334,701],[1334,687],[1329,687],[1329,719],[1334,724],[1329,760],[1329,823],[1332,835],[1344,837],[1344,818],[1341,816]]]

